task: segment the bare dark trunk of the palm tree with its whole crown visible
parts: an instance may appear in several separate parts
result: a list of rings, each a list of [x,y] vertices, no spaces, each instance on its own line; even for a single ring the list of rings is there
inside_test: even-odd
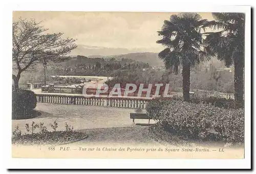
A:
[[[190,64],[183,64],[182,67],[182,84],[183,84],[183,99],[189,100],[189,88],[190,88]]]

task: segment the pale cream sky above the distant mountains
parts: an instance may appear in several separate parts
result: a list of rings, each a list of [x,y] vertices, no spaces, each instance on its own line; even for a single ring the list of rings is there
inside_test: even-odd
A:
[[[160,52],[157,35],[164,20],[177,13],[167,12],[54,12],[15,11],[13,20],[34,18],[49,29],[62,32],[87,49],[127,49],[131,52]],[[213,20],[211,13],[199,13]]]

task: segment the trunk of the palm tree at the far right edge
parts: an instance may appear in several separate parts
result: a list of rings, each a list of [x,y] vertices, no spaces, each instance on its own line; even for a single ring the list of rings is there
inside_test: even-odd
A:
[[[241,59],[234,60],[234,100],[236,106],[241,107],[244,103],[244,64]]]

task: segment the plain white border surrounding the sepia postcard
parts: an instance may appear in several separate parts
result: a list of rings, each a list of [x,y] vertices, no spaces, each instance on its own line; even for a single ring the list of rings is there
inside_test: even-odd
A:
[[[7,4],[2,11],[4,20],[2,29],[5,32],[2,42],[2,75],[5,86],[2,88],[2,134],[4,139],[2,143],[5,151],[6,168],[250,168],[251,155],[251,28],[250,28],[250,7],[248,6],[209,6],[184,3],[174,5],[172,1],[166,2],[169,5],[162,5],[156,2],[137,2],[127,1],[92,1],[84,3],[67,3],[61,1],[53,3],[43,1],[42,3],[27,1],[29,3],[16,2]],[[112,2],[112,3],[111,3]],[[100,6],[99,6],[100,3]],[[113,6],[113,4],[115,4]],[[12,37],[12,10],[29,11],[163,11],[163,12],[245,12],[246,13],[246,35],[245,35],[245,159],[242,160],[205,160],[205,159],[12,159],[11,158],[11,37]],[[4,66],[3,66],[4,65]],[[2,83],[3,84],[3,83]],[[6,92],[3,92],[5,90]],[[3,100],[5,99],[5,100]]]

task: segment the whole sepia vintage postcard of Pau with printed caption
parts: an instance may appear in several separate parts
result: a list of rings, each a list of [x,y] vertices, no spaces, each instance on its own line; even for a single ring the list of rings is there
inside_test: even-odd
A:
[[[12,158],[245,158],[250,14],[12,15]]]

